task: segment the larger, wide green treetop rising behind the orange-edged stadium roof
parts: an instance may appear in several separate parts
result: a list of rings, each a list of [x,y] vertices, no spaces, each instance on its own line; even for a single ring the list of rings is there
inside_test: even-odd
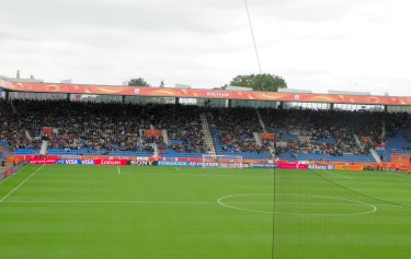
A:
[[[287,82],[285,82],[285,80],[282,76],[263,73],[237,75],[231,80],[231,82],[228,85],[250,87],[253,91],[277,92],[278,89],[286,89]],[[222,87],[227,87],[228,85],[226,84]]]

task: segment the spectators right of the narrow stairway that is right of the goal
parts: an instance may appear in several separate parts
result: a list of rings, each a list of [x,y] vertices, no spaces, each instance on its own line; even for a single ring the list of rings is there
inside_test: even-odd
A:
[[[294,156],[301,152],[369,154],[372,148],[385,143],[395,128],[410,126],[407,114],[307,109],[269,109],[261,114],[267,130],[276,132],[277,142],[284,136],[298,136],[285,141],[286,145],[276,146],[277,154],[290,152]]]

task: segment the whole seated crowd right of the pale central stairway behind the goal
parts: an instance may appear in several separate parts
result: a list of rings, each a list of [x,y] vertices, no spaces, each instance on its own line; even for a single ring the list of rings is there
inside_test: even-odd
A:
[[[273,146],[276,154],[289,152],[294,156],[298,153],[364,155],[385,143],[383,128],[389,134],[396,127],[409,126],[406,114],[264,108],[260,114],[266,131],[275,132],[275,141],[262,140],[259,145],[253,133],[263,129],[255,109],[214,108],[210,111],[219,129],[222,152],[260,153]]]

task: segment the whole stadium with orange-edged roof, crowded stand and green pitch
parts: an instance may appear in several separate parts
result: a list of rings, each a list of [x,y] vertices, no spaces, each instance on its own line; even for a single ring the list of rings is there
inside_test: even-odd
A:
[[[0,80],[1,258],[407,258],[410,97]]]

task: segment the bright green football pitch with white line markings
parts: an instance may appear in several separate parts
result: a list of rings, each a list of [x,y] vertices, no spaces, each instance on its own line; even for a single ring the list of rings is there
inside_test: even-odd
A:
[[[410,258],[411,176],[30,165],[0,184],[1,259],[269,259],[272,250]]]

